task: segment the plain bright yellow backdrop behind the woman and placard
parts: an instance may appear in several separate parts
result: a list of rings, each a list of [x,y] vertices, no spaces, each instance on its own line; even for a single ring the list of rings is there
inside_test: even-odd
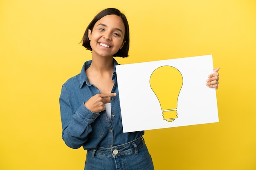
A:
[[[107,7],[130,24],[119,63],[213,54],[220,67],[220,122],[146,131],[155,169],[255,170],[255,0],[1,0],[0,169],[83,169],[86,151],[61,139],[58,98],[91,59],[79,42]]]

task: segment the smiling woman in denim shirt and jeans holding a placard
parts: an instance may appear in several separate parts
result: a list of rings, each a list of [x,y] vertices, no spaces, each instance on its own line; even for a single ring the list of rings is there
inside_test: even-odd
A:
[[[128,57],[129,26],[118,9],[97,14],[83,36],[92,51],[81,73],[62,86],[62,138],[71,148],[87,150],[85,170],[153,170],[142,135],[123,133],[118,84],[113,57]],[[218,69],[207,86],[218,88]]]

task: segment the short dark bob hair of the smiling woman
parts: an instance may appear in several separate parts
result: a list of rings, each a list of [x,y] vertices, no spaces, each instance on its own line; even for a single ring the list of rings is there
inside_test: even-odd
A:
[[[83,35],[83,39],[81,41],[81,43],[83,43],[82,45],[87,49],[92,51],[92,47],[90,45],[90,40],[88,38],[88,30],[90,29],[91,31],[93,30],[93,27],[95,25],[95,23],[97,21],[99,21],[102,17],[105,17],[106,15],[117,15],[119,17],[122,18],[123,22],[124,22],[124,28],[125,28],[125,33],[124,33],[124,41],[126,41],[126,43],[124,43],[123,48],[121,48],[120,50],[118,50],[117,53],[115,53],[113,56],[114,57],[128,57],[128,51],[129,51],[129,45],[130,45],[130,33],[129,33],[129,24],[128,21],[126,19],[126,16],[121,13],[118,9],[115,8],[107,8],[104,9],[103,11],[99,12],[94,18],[93,20],[90,22],[90,24],[88,25],[88,27],[85,30],[85,33]],[[123,41],[123,42],[124,42]]]

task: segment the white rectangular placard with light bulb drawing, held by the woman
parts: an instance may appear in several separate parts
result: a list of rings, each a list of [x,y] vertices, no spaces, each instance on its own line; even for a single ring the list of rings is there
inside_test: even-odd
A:
[[[218,122],[216,89],[205,85],[213,73],[211,55],[116,70],[124,133]]]

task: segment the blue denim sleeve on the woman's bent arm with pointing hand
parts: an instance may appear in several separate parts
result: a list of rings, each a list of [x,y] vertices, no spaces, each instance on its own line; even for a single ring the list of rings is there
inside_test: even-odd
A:
[[[92,131],[91,123],[99,116],[87,109],[83,103],[73,111],[68,98],[65,85],[62,86],[59,99],[61,109],[62,139],[70,148],[80,148],[87,140]]]

